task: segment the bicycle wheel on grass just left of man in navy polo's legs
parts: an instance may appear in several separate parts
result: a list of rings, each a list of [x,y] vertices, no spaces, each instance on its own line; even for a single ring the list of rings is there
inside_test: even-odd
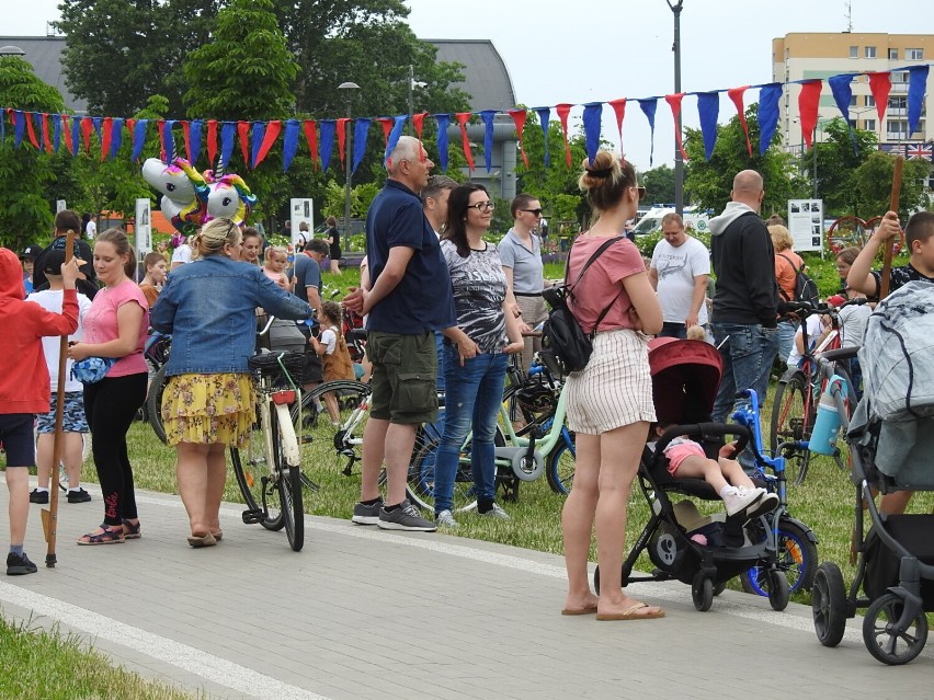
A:
[[[328,412],[328,394],[333,395],[337,420]],[[321,466],[345,475],[358,472],[363,455],[363,431],[369,417],[367,385],[358,381],[328,381],[301,398],[301,410],[292,409],[292,422],[301,451],[301,464]]]

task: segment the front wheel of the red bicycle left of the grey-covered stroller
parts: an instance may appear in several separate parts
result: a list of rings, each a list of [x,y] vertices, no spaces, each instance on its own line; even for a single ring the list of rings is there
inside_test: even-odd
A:
[[[784,443],[807,441],[813,427],[813,402],[807,378],[800,371],[790,376],[787,374],[775,388],[772,401],[772,422],[770,425],[770,448],[772,455],[778,455],[778,448]],[[786,450],[785,469],[789,481],[800,484],[808,471],[811,459],[810,450],[793,448]]]

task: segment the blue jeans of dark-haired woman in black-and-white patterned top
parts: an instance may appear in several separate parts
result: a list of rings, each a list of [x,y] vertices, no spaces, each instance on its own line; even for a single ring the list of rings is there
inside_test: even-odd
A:
[[[497,466],[493,439],[497,416],[503,402],[503,385],[509,356],[480,354],[464,362],[456,346],[444,348],[445,401],[444,435],[437,448],[434,468],[434,512],[451,510],[454,505],[454,479],[460,447],[470,428],[470,469],[477,501],[492,504],[497,494]]]

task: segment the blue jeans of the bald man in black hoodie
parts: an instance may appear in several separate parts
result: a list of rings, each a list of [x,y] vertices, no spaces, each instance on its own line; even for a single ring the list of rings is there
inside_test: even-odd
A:
[[[768,375],[778,352],[778,331],[737,323],[711,323],[710,330],[724,360],[713,418],[715,423],[724,423],[737,403],[738,392],[753,389],[760,405],[765,401]]]

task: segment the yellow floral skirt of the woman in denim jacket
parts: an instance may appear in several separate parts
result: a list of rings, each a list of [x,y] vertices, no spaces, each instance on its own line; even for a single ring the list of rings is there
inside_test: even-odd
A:
[[[257,402],[250,375],[176,375],[162,393],[169,445],[220,444],[242,449],[250,441]]]

